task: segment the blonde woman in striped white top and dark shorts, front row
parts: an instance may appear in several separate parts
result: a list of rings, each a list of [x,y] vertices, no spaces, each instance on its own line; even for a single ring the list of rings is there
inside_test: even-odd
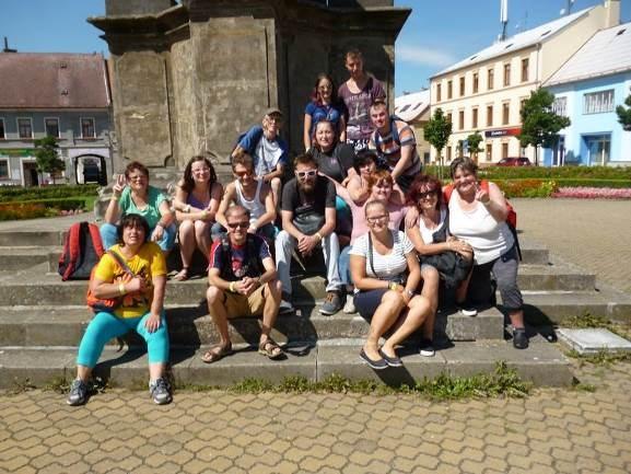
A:
[[[401,367],[396,347],[417,331],[431,314],[428,299],[416,294],[421,269],[407,235],[388,227],[388,205],[371,200],[364,208],[369,232],[350,252],[355,285],[355,307],[371,320],[369,337],[360,357],[373,369]],[[392,330],[379,348],[379,338]]]

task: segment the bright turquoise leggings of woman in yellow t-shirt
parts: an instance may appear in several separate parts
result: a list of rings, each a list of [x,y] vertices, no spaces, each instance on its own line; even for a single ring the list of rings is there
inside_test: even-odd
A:
[[[147,313],[140,317],[118,317],[106,312],[96,313],[81,339],[77,363],[91,369],[94,368],[107,342],[132,330],[147,342],[149,363],[168,362],[168,332],[164,310],[162,311],[160,327],[154,333],[148,332],[144,327],[144,321],[150,314]]]

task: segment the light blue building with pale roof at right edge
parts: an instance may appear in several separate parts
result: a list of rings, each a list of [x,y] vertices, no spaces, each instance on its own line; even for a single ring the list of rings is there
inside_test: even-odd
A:
[[[631,165],[631,131],[616,114],[631,94],[631,23],[596,33],[544,86],[556,112],[572,120],[544,164]]]

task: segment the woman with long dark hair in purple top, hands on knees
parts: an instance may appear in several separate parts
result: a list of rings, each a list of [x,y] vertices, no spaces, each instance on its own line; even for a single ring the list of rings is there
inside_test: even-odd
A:
[[[210,229],[219,208],[222,185],[208,158],[192,157],[184,170],[184,178],[175,193],[175,217],[179,222],[182,270],[173,279],[188,279],[195,248],[208,256]]]

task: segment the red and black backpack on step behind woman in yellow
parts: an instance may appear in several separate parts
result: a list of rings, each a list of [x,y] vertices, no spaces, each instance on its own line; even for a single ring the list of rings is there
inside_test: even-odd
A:
[[[92,267],[104,253],[98,227],[89,222],[75,222],[63,238],[63,252],[59,257],[57,271],[63,281],[87,280]]]

